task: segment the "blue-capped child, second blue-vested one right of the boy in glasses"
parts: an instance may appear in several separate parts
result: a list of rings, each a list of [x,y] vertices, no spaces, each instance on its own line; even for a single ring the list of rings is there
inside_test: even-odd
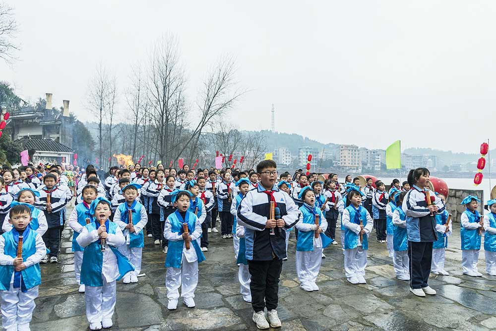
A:
[[[357,186],[348,186],[346,208],[343,211],[344,227],[344,270],[347,280],[352,284],[367,284],[368,239],[373,221],[369,212],[362,206],[364,193]]]

